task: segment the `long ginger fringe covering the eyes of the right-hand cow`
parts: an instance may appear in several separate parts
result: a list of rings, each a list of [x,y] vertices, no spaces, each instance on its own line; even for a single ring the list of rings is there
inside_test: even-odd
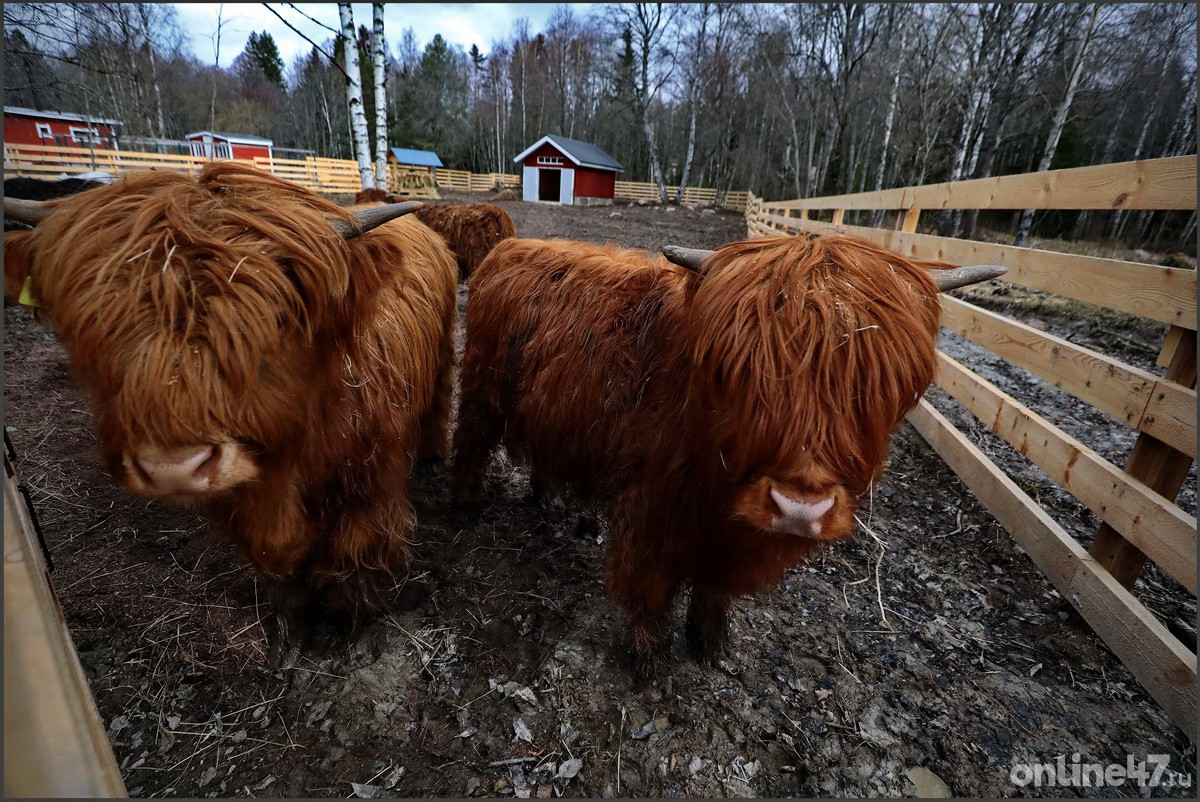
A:
[[[689,341],[698,389],[724,420],[726,459],[820,455],[865,490],[932,378],[938,315],[922,263],[850,238],[718,250],[692,299]]]

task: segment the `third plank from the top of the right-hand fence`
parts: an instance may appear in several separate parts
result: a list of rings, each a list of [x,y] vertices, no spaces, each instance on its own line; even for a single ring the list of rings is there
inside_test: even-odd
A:
[[[1192,456],[1196,391],[943,293],[942,325]]]

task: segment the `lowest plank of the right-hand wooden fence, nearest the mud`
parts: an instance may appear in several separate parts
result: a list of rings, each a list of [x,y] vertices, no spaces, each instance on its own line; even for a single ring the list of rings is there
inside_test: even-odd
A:
[[[908,421],[1190,737],[1196,656],[928,401]]]

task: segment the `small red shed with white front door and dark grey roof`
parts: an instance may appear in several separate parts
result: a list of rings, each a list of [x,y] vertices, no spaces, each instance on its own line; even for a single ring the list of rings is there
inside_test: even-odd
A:
[[[512,161],[524,166],[522,199],[580,207],[611,204],[617,173],[625,169],[592,143],[553,133],[547,133]]]

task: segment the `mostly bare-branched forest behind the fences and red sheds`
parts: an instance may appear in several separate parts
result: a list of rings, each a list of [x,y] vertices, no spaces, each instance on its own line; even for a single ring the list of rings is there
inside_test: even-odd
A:
[[[119,119],[131,150],[210,128],[355,157],[336,30],[289,65],[270,31],[218,37],[240,49],[226,70],[191,54],[167,4],[5,4],[4,22],[6,106]],[[371,20],[355,23],[373,143]],[[545,30],[518,20],[467,52],[412,29],[385,40],[388,145],[456,169],[518,172],[514,156],[557,133],[670,197],[781,199],[1196,151],[1193,4],[560,5]],[[1032,222],[1195,250],[1195,213],[985,216],[943,214],[941,233],[1020,241]]]

